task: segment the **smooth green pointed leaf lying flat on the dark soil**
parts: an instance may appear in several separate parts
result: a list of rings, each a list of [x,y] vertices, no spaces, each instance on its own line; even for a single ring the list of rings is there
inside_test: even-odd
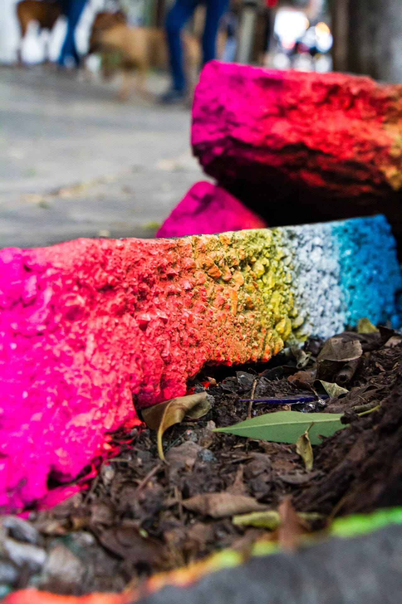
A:
[[[344,428],[342,413],[300,413],[300,411],[276,411],[247,419],[244,422],[216,428],[214,432],[228,432],[249,439],[268,440],[275,443],[295,443],[309,428],[310,443],[319,445],[319,435],[332,436]]]

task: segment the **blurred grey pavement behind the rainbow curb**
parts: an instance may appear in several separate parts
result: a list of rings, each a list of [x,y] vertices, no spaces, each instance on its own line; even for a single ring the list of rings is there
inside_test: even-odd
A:
[[[148,88],[167,80],[152,75]],[[0,68],[0,248],[152,237],[202,177],[190,115],[54,68]]]

